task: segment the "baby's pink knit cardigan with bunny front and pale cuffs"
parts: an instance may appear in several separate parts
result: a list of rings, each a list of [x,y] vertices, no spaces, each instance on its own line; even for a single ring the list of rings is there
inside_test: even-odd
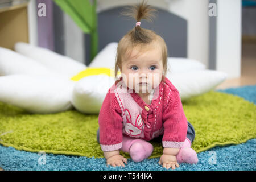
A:
[[[149,141],[163,134],[163,147],[180,148],[188,122],[171,81],[165,77],[160,82],[149,105],[120,83],[122,79],[108,90],[98,117],[102,151],[119,150],[123,135]]]

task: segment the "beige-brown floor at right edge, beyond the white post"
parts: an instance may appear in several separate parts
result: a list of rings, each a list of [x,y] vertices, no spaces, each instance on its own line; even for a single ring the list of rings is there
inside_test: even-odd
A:
[[[242,44],[241,77],[229,79],[218,85],[216,89],[226,89],[256,84],[256,42]]]

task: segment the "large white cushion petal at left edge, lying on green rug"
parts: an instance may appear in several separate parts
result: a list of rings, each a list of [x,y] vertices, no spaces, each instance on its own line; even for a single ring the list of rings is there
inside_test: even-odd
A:
[[[56,113],[72,108],[75,82],[47,76],[0,76],[0,101],[31,113]]]

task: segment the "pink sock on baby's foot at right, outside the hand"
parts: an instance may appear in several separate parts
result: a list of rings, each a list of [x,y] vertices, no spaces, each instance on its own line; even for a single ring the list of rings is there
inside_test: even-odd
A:
[[[198,162],[196,152],[191,148],[191,141],[186,138],[179,153],[176,155],[178,163],[196,164]]]

